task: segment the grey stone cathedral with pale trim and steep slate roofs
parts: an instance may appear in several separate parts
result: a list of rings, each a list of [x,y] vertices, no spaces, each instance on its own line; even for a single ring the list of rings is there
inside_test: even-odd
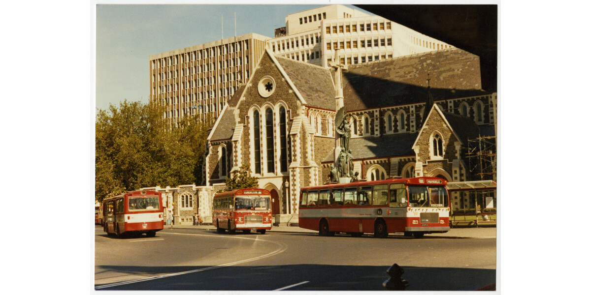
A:
[[[248,165],[272,193],[275,221],[297,220],[300,188],[329,182],[335,165],[336,73],[267,49],[209,133],[201,184]],[[348,65],[342,96],[359,179],[480,180],[469,141],[496,136],[496,93],[482,90],[478,56],[450,48]]]

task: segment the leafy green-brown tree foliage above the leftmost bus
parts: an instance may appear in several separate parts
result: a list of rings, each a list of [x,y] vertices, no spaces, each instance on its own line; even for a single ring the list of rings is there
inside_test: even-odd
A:
[[[122,101],[99,110],[95,123],[95,198],[146,186],[199,183],[212,116],[184,117],[170,127],[156,103]]]

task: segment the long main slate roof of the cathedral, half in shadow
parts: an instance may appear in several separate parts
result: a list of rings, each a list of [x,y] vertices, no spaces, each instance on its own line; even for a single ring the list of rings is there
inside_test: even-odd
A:
[[[334,69],[331,74],[335,76]],[[343,71],[345,106],[353,111],[424,103],[427,74],[434,100],[486,94],[480,84],[479,57],[452,48],[349,65]]]

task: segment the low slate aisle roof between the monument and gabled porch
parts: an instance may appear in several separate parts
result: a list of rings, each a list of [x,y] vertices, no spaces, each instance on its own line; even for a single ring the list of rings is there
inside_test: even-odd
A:
[[[351,149],[353,160],[414,156],[415,153],[412,146],[415,139],[417,139],[417,133],[357,137],[349,139],[349,148]],[[322,162],[333,162],[333,150],[324,157]]]

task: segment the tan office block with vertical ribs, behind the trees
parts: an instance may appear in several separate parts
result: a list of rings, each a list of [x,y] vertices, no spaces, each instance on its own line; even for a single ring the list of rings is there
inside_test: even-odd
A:
[[[184,116],[219,114],[248,80],[269,37],[245,34],[150,55],[150,99],[176,125]]]

